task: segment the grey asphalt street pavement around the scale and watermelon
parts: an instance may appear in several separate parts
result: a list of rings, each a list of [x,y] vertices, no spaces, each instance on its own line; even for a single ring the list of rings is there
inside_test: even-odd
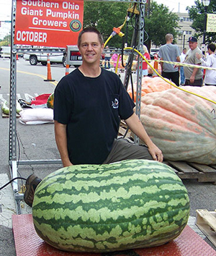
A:
[[[70,72],[73,69],[70,69]],[[38,64],[30,66],[27,61],[19,59],[17,61],[17,96],[19,98],[30,98],[42,93],[53,93],[56,83],[65,75],[66,69],[60,65],[51,66],[52,77],[55,82],[45,82],[47,68]],[[9,99],[9,59],[0,58],[0,103]],[[0,184],[4,179],[11,179],[9,169],[9,119],[1,117],[0,121]],[[19,165],[19,160],[52,160],[60,159],[58,149],[55,145],[53,124],[24,125],[17,118],[17,161],[20,176],[27,178],[35,173],[40,178],[44,178],[51,172],[61,168],[61,164],[26,164]],[[183,180],[189,192],[191,202],[192,221],[195,221],[197,209],[216,209],[216,187],[212,183],[200,183],[194,179]],[[1,184],[2,186],[3,184]],[[9,214],[5,217],[2,209],[12,195],[11,185],[7,190],[0,191],[0,255],[15,256],[14,236],[12,232],[11,216],[16,214],[15,208],[9,209]],[[13,200],[13,199],[12,199]],[[14,203],[14,202],[12,202]],[[9,207],[7,207],[9,208]],[[31,209],[24,205],[24,212],[30,213]],[[4,216],[4,217],[3,217]],[[214,245],[204,238],[210,246],[216,250]],[[216,252],[215,252],[216,253]],[[192,256],[192,255],[189,255]],[[203,253],[203,256],[207,256]]]

